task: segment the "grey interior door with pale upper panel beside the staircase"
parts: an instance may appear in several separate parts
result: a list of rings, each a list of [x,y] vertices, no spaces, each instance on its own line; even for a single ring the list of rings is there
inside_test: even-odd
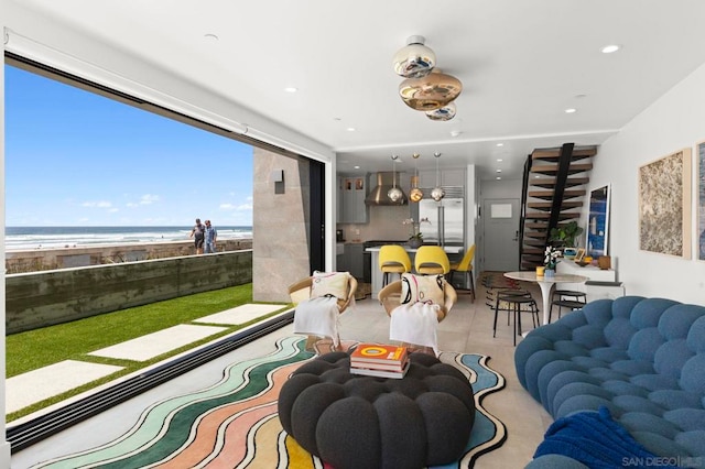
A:
[[[518,198],[494,198],[482,203],[486,271],[519,270],[519,206]]]

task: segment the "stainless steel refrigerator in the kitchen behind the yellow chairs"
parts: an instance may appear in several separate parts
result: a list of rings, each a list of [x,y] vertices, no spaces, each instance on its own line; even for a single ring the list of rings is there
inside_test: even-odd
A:
[[[419,201],[419,219],[430,223],[420,225],[425,243],[438,246],[465,244],[465,209],[463,198],[442,198],[441,201],[422,199]]]

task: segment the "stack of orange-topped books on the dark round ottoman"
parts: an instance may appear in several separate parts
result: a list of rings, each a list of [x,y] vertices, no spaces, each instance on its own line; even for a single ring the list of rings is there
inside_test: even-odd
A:
[[[360,343],[350,353],[350,373],[401,379],[409,370],[406,347]]]

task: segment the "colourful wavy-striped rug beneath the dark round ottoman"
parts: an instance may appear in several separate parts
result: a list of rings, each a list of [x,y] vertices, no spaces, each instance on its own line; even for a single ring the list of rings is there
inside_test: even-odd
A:
[[[347,345],[347,343],[346,343]],[[80,454],[35,468],[324,468],[286,435],[276,416],[279,391],[293,370],[314,357],[305,339],[288,337],[265,357],[234,363],[217,384],[153,404],[124,435]],[[442,352],[441,360],[465,373],[475,391],[477,414],[467,451],[443,468],[469,468],[501,446],[505,425],[481,405],[505,386],[487,366],[489,357]]]

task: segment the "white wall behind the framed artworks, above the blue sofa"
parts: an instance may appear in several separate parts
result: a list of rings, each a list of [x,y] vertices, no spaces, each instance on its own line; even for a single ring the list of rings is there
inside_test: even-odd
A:
[[[697,259],[697,160],[705,140],[705,65],[608,139],[594,159],[590,188],[611,185],[609,254],[627,294],[705,305],[705,261]],[[639,250],[639,166],[681,149],[693,152],[692,259]]]

